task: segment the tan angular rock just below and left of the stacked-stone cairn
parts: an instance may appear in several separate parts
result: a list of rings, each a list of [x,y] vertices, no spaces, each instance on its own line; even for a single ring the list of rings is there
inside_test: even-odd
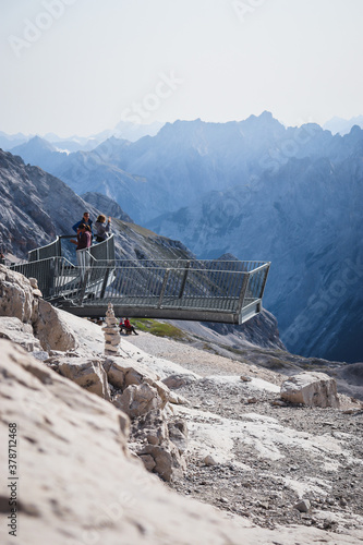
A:
[[[58,362],[58,371],[82,388],[107,400],[110,399],[107,376],[100,361],[85,358],[63,358]]]

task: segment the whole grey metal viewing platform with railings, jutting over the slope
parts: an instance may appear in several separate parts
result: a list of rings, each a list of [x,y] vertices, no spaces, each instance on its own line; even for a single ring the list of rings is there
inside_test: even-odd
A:
[[[29,252],[12,269],[38,281],[44,299],[77,316],[117,316],[243,324],[262,310],[269,262],[116,259],[113,235],[90,249],[72,237]],[[74,237],[73,237],[74,238]]]

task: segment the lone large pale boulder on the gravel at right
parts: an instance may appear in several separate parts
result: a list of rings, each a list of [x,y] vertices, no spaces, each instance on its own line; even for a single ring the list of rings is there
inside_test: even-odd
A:
[[[339,408],[337,383],[325,373],[303,372],[285,380],[281,399],[310,407]]]

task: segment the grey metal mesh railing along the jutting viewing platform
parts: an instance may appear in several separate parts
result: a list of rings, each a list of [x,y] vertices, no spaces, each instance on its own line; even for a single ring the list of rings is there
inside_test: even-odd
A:
[[[253,268],[256,264],[258,267]],[[51,257],[13,268],[37,278],[49,300],[61,298],[83,306],[102,306],[107,301],[130,307],[239,313],[262,299],[269,263],[169,261],[159,266],[155,262],[141,266],[124,261],[112,266],[100,265],[88,255],[78,266],[63,257]]]

